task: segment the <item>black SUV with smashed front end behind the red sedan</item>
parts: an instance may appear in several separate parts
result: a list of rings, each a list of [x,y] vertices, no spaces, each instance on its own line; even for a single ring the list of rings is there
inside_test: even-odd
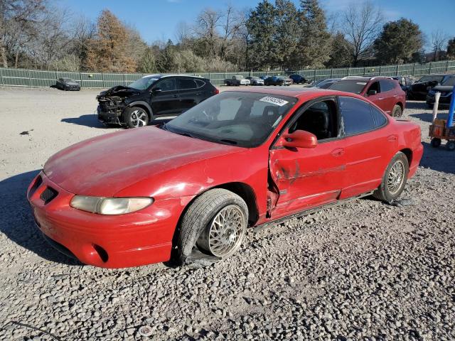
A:
[[[201,77],[148,75],[127,87],[101,92],[98,119],[129,128],[146,126],[156,117],[181,114],[218,92],[210,80]]]

